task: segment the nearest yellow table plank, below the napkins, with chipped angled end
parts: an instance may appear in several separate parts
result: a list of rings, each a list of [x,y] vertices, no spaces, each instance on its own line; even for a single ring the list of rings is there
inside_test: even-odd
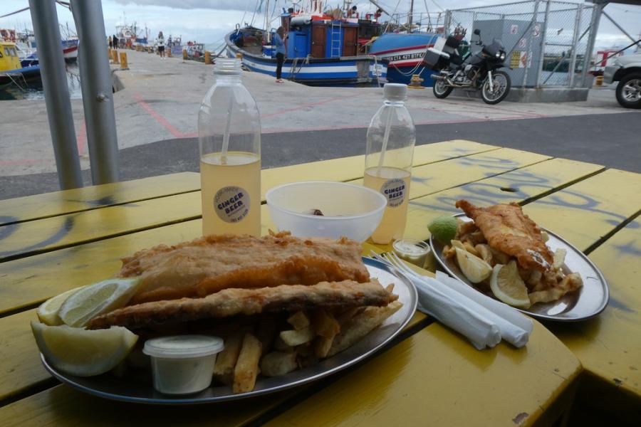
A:
[[[434,323],[266,425],[551,425],[563,410],[555,400],[579,373],[574,355],[538,322],[526,348],[482,352]]]

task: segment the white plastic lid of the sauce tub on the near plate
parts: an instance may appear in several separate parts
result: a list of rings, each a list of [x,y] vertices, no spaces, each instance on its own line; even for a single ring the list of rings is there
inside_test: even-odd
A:
[[[207,335],[174,335],[147,340],[142,352],[161,359],[191,359],[210,356],[225,348],[219,337]]]

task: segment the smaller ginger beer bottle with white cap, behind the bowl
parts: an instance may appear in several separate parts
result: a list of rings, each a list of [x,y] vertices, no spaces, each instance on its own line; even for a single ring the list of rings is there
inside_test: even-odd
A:
[[[382,221],[371,237],[374,243],[387,244],[405,231],[416,131],[405,108],[407,85],[387,83],[383,94],[385,101],[368,128],[364,184],[387,198]]]

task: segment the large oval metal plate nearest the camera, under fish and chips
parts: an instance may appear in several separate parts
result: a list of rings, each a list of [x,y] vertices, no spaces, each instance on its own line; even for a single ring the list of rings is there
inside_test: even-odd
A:
[[[260,396],[262,394],[273,393],[274,391],[289,389],[334,374],[369,357],[390,342],[403,327],[407,325],[407,322],[410,322],[412,315],[414,315],[416,311],[417,304],[417,294],[414,285],[406,278],[392,273],[385,264],[377,260],[363,258],[363,262],[367,266],[372,278],[377,278],[383,285],[394,283],[393,292],[398,295],[398,299],[403,303],[400,310],[395,312],[394,315],[385,320],[380,327],[370,332],[365,338],[343,352],[336,354],[334,357],[325,359],[313,367],[293,371],[283,376],[260,378],[256,381],[256,388],[248,393],[232,394],[231,387],[210,386],[208,389],[197,394],[184,396],[165,395],[155,391],[150,376],[146,381],[118,379],[109,373],[83,378],[64,374],[48,364],[42,354],[40,357],[47,371],[63,383],[69,384],[80,391],[94,394],[95,396],[120,401],[166,405],[204,404],[244,399],[251,396]]]

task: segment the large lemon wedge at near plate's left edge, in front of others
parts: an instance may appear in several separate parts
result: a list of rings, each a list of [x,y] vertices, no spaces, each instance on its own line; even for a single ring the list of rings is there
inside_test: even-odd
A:
[[[104,374],[127,357],[138,336],[125,327],[84,330],[31,322],[33,336],[44,357],[56,369],[75,376]]]

